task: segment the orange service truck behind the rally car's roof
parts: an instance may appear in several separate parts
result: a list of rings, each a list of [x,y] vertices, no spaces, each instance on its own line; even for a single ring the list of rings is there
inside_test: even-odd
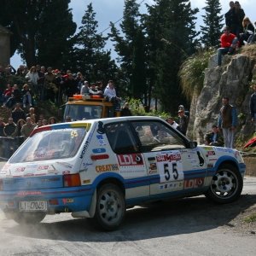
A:
[[[73,121],[119,117],[120,111],[103,96],[73,95],[64,105],[63,121],[70,117]]]

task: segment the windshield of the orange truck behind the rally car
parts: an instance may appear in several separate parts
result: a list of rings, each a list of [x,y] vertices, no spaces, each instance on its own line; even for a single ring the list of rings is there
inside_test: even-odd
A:
[[[86,119],[100,119],[102,117],[102,106],[91,105],[66,105],[64,119],[67,116],[71,117],[73,121]]]

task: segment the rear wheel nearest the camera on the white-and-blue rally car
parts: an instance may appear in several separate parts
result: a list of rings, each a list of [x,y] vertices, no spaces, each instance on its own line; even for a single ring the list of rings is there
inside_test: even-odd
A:
[[[102,185],[97,190],[96,212],[92,219],[102,230],[116,230],[125,218],[125,195],[115,184]]]

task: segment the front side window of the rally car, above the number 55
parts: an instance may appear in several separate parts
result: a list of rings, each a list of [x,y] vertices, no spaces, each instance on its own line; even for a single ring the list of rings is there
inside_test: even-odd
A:
[[[142,146],[143,152],[186,148],[182,137],[159,121],[131,122]]]

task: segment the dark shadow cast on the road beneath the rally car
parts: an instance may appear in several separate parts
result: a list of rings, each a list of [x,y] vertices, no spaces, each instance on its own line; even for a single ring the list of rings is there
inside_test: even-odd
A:
[[[90,218],[68,218],[37,225],[7,228],[15,236],[60,241],[137,241],[196,233],[229,225],[230,221],[256,203],[256,195],[241,195],[239,201],[217,205],[200,196],[177,201],[155,202],[126,212],[125,223],[112,232],[95,230]],[[49,216],[47,219],[53,218]],[[13,221],[13,220],[9,220]]]

